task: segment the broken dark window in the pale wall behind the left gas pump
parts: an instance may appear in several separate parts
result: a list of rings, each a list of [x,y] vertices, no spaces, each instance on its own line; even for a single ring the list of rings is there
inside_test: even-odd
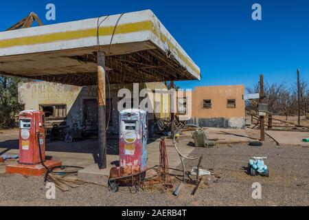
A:
[[[40,104],[40,110],[44,111],[45,119],[63,119],[67,117],[66,104]]]

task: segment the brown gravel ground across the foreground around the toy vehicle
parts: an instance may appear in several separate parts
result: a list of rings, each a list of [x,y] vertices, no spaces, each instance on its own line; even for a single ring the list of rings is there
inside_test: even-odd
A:
[[[257,148],[238,144],[196,148],[192,156],[203,153],[203,168],[214,175],[204,177],[195,196],[186,185],[179,197],[161,186],[132,195],[128,188],[108,192],[107,188],[87,184],[69,192],[56,190],[56,199],[46,199],[43,177],[0,175],[0,206],[309,206],[309,148],[264,144]],[[251,177],[244,171],[251,155],[266,156],[270,177]],[[187,166],[196,162],[187,161]],[[174,179],[174,184],[177,184]],[[254,182],[262,184],[262,199],[252,199]]]

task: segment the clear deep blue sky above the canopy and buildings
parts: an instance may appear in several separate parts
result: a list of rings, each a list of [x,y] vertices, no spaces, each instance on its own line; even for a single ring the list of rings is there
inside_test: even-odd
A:
[[[45,20],[45,5],[56,5],[56,21]],[[253,3],[262,21],[251,19]],[[151,9],[201,67],[201,81],[176,83],[251,87],[267,82],[295,83],[297,68],[309,80],[309,1],[306,0],[27,0],[1,1],[0,30],[34,11],[52,24]]]

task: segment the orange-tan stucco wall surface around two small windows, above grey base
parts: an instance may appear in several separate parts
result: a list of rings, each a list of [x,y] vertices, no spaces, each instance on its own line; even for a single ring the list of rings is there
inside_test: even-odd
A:
[[[242,118],[244,111],[244,86],[227,85],[196,87],[192,91],[192,117],[194,118]],[[211,99],[212,108],[203,109],[203,100]],[[236,99],[236,108],[227,108],[227,100]]]

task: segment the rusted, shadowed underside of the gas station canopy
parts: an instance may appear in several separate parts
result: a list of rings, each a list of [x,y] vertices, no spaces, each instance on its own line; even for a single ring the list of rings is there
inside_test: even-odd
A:
[[[16,68],[1,74],[78,86],[98,84],[97,52],[57,54],[28,54],[25,60],[11,57],[8,61],[1,61],[0,65],[15,63]],[[112,84],[194,80],[187,77],[184,67],[167,58],[159,49],[108,56],[106,71]]]

